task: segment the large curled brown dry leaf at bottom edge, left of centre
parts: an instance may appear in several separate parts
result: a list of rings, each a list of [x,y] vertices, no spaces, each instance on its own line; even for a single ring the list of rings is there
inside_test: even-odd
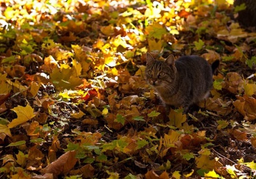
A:
[[[61,155],[55,162],[42,169],[42,172],[44,174],[53,174],[54,178],[56,178],[59,174],[68,173],[74,167],[75,163],[77,163],[78,159],[75,158],[75,154],[75,151],[66,152],[65,154]]]

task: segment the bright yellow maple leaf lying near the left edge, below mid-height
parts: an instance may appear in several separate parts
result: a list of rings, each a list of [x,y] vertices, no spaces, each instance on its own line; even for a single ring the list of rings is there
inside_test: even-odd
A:
[[[25,107],[18,105],[18,107],[14,107],[12,110],[17,114],[18,118],[13,119],[13,121],[7,125],[8,128],[16,127],[17,125],[27,122],[36,116],[33,113],[33,108],[29,104],[27,104]]]

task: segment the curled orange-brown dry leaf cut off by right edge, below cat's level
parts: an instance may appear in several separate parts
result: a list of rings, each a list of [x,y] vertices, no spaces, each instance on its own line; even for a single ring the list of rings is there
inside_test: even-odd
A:
[[[234,107],[246,121],[254,121],[256,119],[256,99],[247,95],[236,97],[237,100],[233,102]]]

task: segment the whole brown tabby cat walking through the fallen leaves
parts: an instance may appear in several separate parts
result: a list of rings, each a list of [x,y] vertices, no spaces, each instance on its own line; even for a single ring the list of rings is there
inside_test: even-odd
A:
[[[183,56],[174,60],[169,55],[165,61],[155,60],[147,53],[146,80],[164,102],[166,110],[170,107],[184,107],[208,97],[213,86],[213,73],[219,60],[213,64],[199,56]]]

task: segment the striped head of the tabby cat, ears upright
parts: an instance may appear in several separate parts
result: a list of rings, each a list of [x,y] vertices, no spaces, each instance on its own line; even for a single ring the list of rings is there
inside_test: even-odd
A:
[[[165,61],[155,60],[147,53],[146,80],[153,87],[165,87],[172,83],[176,77],[176,67],[173,55],[169,55]]]

